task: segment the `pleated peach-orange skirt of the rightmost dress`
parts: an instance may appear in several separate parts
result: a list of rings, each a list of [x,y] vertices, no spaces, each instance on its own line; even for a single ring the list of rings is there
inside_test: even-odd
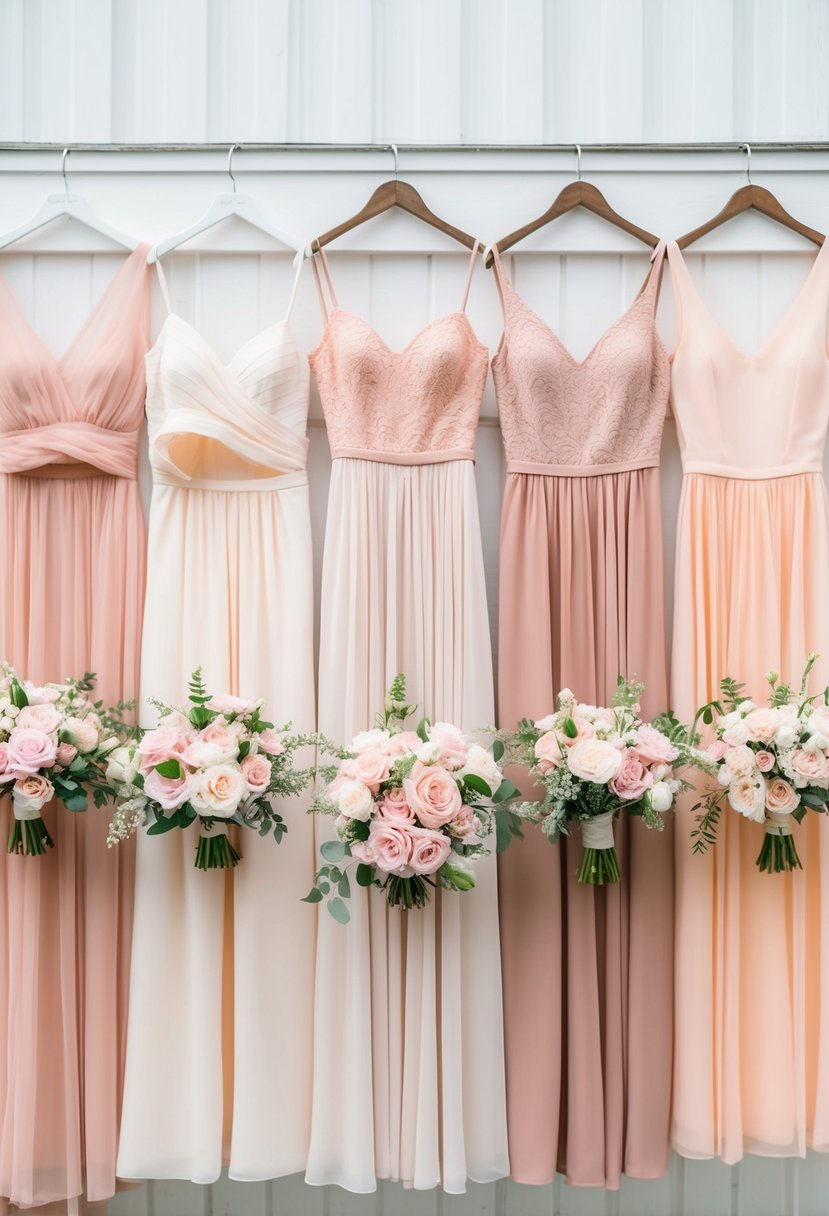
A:
[[[677,537],[672,694],[689,716],[726,676],[765,703],[765,672],[829,681],[829,512],[823,477],[686,474]],[[692,1158],[829,1148],[829,823],[795,826],[803,868],[756,867],[763,828],[728,807],[694,856],[677,814],[672,1143]]]

